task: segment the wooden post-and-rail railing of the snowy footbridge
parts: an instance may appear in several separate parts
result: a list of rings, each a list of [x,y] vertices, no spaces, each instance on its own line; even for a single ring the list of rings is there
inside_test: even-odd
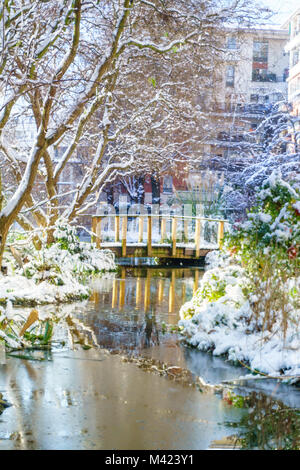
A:
[[[206,217],[193,217],[193,216],[181,216],[181,215],[164,215],[164,214],[105,214],[92,216],[92,241],[96,242],[96,246],[100,248],[108,243],[105,243],[103,225],[104,221],[114,219],[114,244],[121,245],[122,256],[126,256],[126,247],[128,245],[147,245],[147,255],[152,256],[153,244],[168,244],[172,247],[172,256],[176,255],[176,246],[178,245],[177,232],[180,225],[181,233],[183,234],[184,243],[187,245],[191,243],[195,248],[196,257],[199,256],[201,249],[201,228],[207,222],[214,222],[217,224],[217,240],[216,246],[220,247],[222,239],[224,237],[224,225],[228,222],[225,219],[206,218]],[[137,241],[128,240],[128,222],[135,221],[135,233],[137,233]],[[167,222],[171,225],[167,237]],[[144,226],[146,222],[146,237],[144,237]],[[156,222],[155,234],[153,231],[153,225]],[[111,223],[109,224],[111,227]],[[192,233],[191,233],[192,232]],[[155,236],[154,236],[155,235]],[[157,239],[159,236],[159,239]],[[145,239],[145,240],[144,240]],[[111,245],[113,245],[111,243]]]

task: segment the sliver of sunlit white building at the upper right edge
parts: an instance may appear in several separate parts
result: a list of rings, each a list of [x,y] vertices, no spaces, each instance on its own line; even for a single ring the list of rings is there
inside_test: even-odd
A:
[[[293,115],[300,116],[300,8],[294,11],[284,27],[289,31],[289,41],[285,47],[290,58],[288,97]]]

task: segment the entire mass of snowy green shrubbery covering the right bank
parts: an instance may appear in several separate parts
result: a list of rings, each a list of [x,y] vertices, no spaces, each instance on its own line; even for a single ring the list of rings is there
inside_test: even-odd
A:
[[[180,310],[182,335],[252,369],[298,376],[299,187],[272,174],[258,200],[226,236],[225,254],[208,256],[212,268]]]

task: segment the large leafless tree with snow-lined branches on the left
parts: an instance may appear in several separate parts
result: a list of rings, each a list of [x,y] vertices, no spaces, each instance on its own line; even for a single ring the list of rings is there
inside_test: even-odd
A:
[[[62,172],[85,150],[69,220],[117,174],[191,155],[206,126],[193,98],[210,86],[219,32],[257,11],[245,0],[2,0],[0,264],[15,220],[48,227],[51,241]]]

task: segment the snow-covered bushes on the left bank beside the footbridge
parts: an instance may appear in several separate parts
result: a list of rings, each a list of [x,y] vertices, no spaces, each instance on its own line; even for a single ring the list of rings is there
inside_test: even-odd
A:
[[[93,243],[80,242],[76,229],[58,221],[54,243],[46,234],[39,237],[41,249],[30,239],[16,244],[5,254],[8,276],[0,277],[0,300],[35,305],[87,298],[91,275],[114,271],[114,254]]]

